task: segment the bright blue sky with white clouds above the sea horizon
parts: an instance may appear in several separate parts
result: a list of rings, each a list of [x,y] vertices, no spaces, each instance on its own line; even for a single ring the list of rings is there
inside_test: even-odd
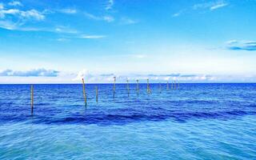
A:
[[[256,0],[0,0],[0,83],[256,82]]]

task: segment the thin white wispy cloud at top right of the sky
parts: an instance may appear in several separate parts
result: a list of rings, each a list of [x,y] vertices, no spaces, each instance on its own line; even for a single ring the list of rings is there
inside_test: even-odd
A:
[[[206,2],[206,3],[199,3],[195,4],[193,6],[194,10],[198,9],[208,9],[208,10],[217,10],[219,8],[222,8],[224,6],[228,6],[229,4],[224,1],[218,1],[218,2]]]

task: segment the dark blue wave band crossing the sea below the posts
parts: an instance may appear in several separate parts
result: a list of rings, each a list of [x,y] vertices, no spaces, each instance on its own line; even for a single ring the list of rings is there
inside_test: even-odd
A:
[[[256,114],[256,112],[246,112],[243,110],[219,110],[212,112],[193,112],[193,111],[180,111],[180,110],[165,110],[158,108],[156,110],[129,110],[115,109],[108,110],[107,112],[98,112],[97,110],[92,113],[86,112],[85,114],[47,114],[46,116],[40,114],[34,114],[33,118],[27,114],[0,114],[1,122],[20,122],[26,120],[32,120],[34,123],[43,124],[98,124],[98,125],[112,125],[112,124],[127,124],[130,122],[142,122],[142,121],[165,121],[167,119],[173,119],[177,122],[186,122],[190,119],[230,119],[238,118],[238,116],[246,114]]]

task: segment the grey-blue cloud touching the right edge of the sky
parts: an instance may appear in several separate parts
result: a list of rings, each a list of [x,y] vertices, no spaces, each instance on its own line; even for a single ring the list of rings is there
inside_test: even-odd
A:
[[[229,42],[226,42],[227,46],[226,48],[228,50],[248,50],[248,51],[254,51],[256,50],[256,42],[254,41],[236,41],[232,40]]]

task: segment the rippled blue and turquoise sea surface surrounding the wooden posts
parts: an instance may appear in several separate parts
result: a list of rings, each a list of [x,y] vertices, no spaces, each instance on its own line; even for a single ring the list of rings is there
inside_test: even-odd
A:
[[[256,84],[129,87],[0,85],[0,159],[256,159]]]

